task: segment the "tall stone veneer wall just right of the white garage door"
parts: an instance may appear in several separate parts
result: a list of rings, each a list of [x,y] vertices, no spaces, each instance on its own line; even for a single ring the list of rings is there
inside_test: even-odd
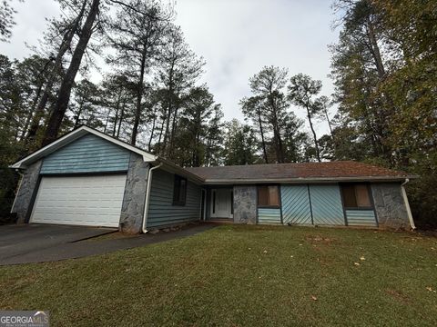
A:
[[[121,207],[120,229],[124,233],[140,233],[146,199],[148,163],[131,153],[123,205]]]

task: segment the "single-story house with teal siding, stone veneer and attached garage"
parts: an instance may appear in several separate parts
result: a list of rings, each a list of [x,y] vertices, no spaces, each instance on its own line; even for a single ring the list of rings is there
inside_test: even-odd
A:
[[[406,173],[340,161],[182,168],[89,128],[14,163],[18,223],[147,232],[197,221],[414,228]]]

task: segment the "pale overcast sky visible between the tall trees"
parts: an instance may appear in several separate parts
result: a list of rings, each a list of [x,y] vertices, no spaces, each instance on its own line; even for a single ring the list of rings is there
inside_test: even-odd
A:
[[[173,0],[167,0],[173,1]],[[264,65],[304,73],[323,83],[322,94],[332,93],[328,45],[335,43],[329,0],[178,0],[177,24],[188,45],[205,58],[206,82],[226,119],[243,116],[239,100],[249,95],[249,77]],[[21,59],[30,54],[46,29],[46,17],[59,15],[54,0],[16,4],[18,14],[9,44],[1,53]],[[304,118],[302,109],[296,114]],[[325,124],[318,124],[327,132]]]

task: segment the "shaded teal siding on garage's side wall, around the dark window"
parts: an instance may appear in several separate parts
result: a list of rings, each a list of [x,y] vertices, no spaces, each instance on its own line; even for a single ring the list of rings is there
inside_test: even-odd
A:
[[[173,205],[175,175],[161,170],[153,173],[147,227],[187,223],[200,219],[201,188],[187,184],[187,203]]]

